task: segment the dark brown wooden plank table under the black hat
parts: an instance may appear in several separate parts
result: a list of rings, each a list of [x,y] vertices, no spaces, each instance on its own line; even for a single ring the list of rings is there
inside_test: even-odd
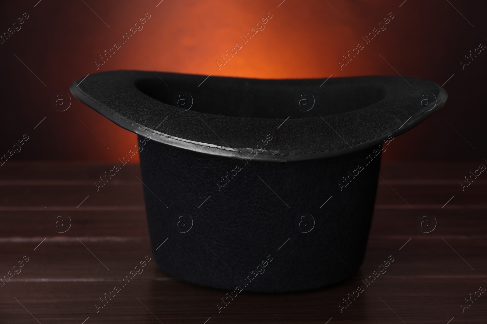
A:
[[[0,288],[0,323],[485,324],[487,293],[477,291],[487,287],[487,175],[460,186],[480,163],[383,163],[366,258],[352,278],[299,293],[243,292],[219,313],[227,291],[176,280],[153,260],[97,312],[99,298],[151,257],[138,165],[97,192],[111,165],[8,161],[0,277],[21,271]],[[437,221],[431,233],[416,224],[425,212]],[[340,312],[391,255],[387,273]]]

